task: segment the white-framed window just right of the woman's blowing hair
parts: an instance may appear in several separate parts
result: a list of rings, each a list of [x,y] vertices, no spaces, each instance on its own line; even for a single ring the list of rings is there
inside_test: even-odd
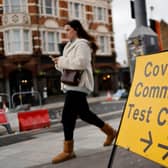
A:
[[[98,37],[98,54],[110,54],[110,38],[107,36]]]

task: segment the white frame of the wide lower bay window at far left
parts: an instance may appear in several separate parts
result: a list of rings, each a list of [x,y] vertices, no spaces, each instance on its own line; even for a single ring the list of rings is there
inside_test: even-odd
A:
[[[15,50],[16,47],[14,44],[16,44],[16,38],[14,38],[14,31],[19,31],[20,39],[17,40],[19,43],[20,49]],[[29,42],[29,50],[25,50],[25,40],[24,40],[24,32],[28,31],[28,40]],[[4,50],[5,54],[8,55],[16,55],[16,54],[32,54],[33,52],[33,46],[32,46],[32,31],[29,28],[10,28],[4,30]],[[7,34],[8,33],[8,34]],[[8,36],[8,37],[7,37]],[[9,40],[7,39],[9,38]],[[10,47],[9,47],[10,46]]]

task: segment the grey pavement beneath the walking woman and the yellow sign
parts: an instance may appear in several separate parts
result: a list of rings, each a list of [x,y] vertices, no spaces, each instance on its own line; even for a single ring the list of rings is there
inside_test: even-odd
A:
[[[89,103],[103,101],[105,97],[89,98]],[[63,103],[53,103],[43,106],[43,108],[60,107]],[[38,108],[38,107],[35,107]],[[40,107],[41,108],[41,107]],[[116,111],[121,113],[121,111]],[[8,113],[8,119],[12,126],[17,128],[15,113]],[[101,116],[100,116],[101,117]],[[106,121],[115,129],[118,129],[121,115],[112,117]],[[51,159],[62,151],[63,132],[62,125],[57,123],[51,128],[41,129],[44,131],[28,131],[0,137],[0,144],[11,139],[13,143],[0,146],[0,168],[161,168],[160,165],[149,161],[141,156],[133,154],[117,147],[113,155],[113,163],[109,165],[110,155],[113,145],[103,147],[105,135],[92,125],[80,126],[78,120],[74,135],[74,150],[76,158],[53,165]],[[59,129],[58,129],[59,128]],[[19,141],[15,139],[20,138]],[[2,140],[2,141],[1,141]]]

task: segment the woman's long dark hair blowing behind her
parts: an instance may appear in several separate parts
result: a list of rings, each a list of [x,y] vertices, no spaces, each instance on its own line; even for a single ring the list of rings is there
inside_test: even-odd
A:
[[[95,42],[95,38],[91,36],[86,30],[83,28],[82,24],[79,20],[71,20],[66,23],[66,25],[70,25],[76,32],[79,38],[86,39],[90,42],[90,47],[93,51],[93,55],[95,55],[98,46]]]

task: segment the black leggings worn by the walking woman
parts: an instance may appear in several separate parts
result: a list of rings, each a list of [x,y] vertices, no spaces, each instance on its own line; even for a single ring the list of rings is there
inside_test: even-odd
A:
[[[86,94],[78,91],[68,91],[65,96],[65,104],[62,113],[62,123],[65,140],[73,140],[73,132],[76,119],[79,116],[83,121],[93,124],[99,128],[104,126],[104,122],[90,111]]]

